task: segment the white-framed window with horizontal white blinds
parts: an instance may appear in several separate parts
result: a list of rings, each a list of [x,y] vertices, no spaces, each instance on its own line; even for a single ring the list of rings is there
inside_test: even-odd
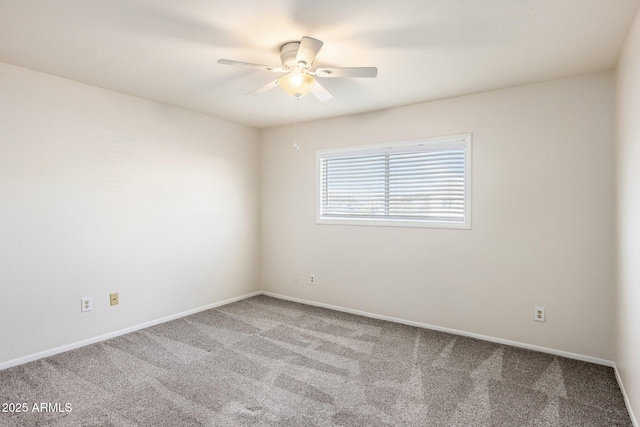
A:
[[[316,158],[319,224],[471,228],[471,134]]]

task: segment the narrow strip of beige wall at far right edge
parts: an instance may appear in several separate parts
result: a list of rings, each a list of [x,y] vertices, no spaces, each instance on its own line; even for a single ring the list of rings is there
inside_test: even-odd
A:
[[[617,70],[618,283],[616,366],[640,414],[640,14]]]

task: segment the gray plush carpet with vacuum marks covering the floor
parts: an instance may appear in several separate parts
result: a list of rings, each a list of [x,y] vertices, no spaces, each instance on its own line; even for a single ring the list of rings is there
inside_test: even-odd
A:
[[[266,296],[0,371],[7,402],[2,426],[631,425],[611,368]]]

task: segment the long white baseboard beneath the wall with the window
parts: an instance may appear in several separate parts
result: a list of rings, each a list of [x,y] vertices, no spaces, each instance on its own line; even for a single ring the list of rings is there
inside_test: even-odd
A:
[[[342,311],[342,312],[345,312],[345,313],[357,314],[359,316],[371,317],[373,319],[387,320],[389,322],[401,323],[403,325],[416,326],[418,328],[432,329],[432,330],[435,330],[435,331],[448,332],[450,334],[462,335],[462,336],[470,337],[470,338],[477,338],[477,339],[481,339],[481,340],[484,340],[484,341],[495,342],[495,343],[498,343],[498,344],[505,344],[505,345],[510,345],[510,346],[513,346],[513,347],[526,348],[528,350],[534,350],[534,351],[539,351],[539,352],[542,352],[542,353],[554,354],[556,356],[562,356],[562,357],[566,357],[566,358],[569,358],[569,359],[581,360],[583,362],[596,363],[598,365],[609,366],[611,368],[613,368],[615,366],[614,363],[611,360],[598,359],[597,357],[585,356],[583,354],[570,353],[568,351],[556,350],[556,349],[547,348],[547,347],[540,347],[540,346],[537,346],[537,345],[526,344],[526,343],[522,343],[522,342],[518,342],[518,341],[510,341],[510,340],[505,340],[505,339],[502,339],[502,338],[490,337],[490,336],[487,336],[487,335],[474,334],[472,332],[460,331],[458,329],[443,328],[441,326],[429,325],[427,323],[414,322],[414,321],[411,321],[411,320],[398,319],[396,317],[382,316],[380,314],[369,313],[369,312],[360,311],[360,310],[353,310],[353,309],[350,309],[350,308],[340,307],[340,306],[331,305],[331,304],[324,304],[324,303],[321,303],[321,302],[309,301],[309,300],[305,300],[305,299],[301,299],[301,298],[289,297],[289,296],[286,296],[286,295],[280,295],[280,294],[276,294],[276,293],[273,293],[273,292],[262,291],[261,293],[263,295],[267,295],[267,296],[270,296],[270,297],[273,297],[273,298],[279,298],[279,299],[283,299],[283,300],[287,300],[287,301],[299,302],[299,303],[307,304],[307,305],[314,305],[314,306],[317,306],[317,307],[328,308],[328,309],[331,309],[331,310]]]

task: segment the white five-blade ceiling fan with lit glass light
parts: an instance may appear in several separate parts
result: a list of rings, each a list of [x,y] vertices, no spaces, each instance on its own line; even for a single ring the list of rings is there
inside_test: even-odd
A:
[[[311,69],[316,55],[320,51],[323,43],[311,37],[303,37],[299,42],[290,42],[280,48],[281,67],[271,67],[268,65],[252,64],[250,62],[232,61],[230,59],[219,59],[218,64],[234,65],[239,67],[256,68],[258,70],[271,71],[274,73],[286,73],[284,76],[255,89],[247,95],[255,95],[280,86],[289,95],[300,98],[311,92],[318,100],[328,101],[333,98],[314,77],[367,77],[373,78],[378,75],[376,67],[327,67]]]

